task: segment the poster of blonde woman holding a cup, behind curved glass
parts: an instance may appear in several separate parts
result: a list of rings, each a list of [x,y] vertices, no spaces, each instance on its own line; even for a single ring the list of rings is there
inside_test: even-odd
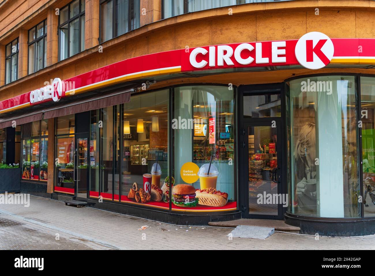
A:
[[[315,123],[305,123],[299,130],[294,151],[296,164],[296,183],[293,202],[304,213],[316,214],[317,211],[317,170],[315,166],[316,143]]]

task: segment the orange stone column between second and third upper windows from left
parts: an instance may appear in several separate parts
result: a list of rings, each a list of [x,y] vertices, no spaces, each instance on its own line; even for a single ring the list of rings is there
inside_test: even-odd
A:
[[[47,66],[58,61],[58,15],[55,9],[49,9],[47,13]]]

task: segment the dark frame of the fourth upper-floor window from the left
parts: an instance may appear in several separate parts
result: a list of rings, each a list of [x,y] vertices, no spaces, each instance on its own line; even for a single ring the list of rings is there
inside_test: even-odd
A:
[[[101,21],[102,21],[102,5],[108,1],[111,1],[111,0],[100,0],[99,1],[99,44],[101,43],[104,43],[108,40],[111,40],[111,39],[114,39],[122,34],[118,34],[118,28],[117,28],[117,24],[118,24],[118,10],[117,10],[117,6],[118,6],[118,0],[112,0],[113,1],[113,8],[112,8],[112,38],[108,39],[108,40],[103,40],[103,38],[101,37],[101,34],[102,34],[102,24],[101,24]],[[133,8],[135,7],[134,3],[135,1],[140,1],[140,0],[129,0],[128,1],[128,7],[127,7],[127,28],[128,28],[128,31],[123,33],[123,34],[126,34],[126,33],[129,33],[130,31],[133,31],[137,28],[134,28],[134,24],[132,26],[132,13],[131,13],[131,7],[133,6]],[[134,10],[134,9],[133,9]],[[135,15],[135,13],[134,13]],[[140,15],[139,15],[140,17]],[[135,19],[135,16],[133,17],[133,19]],[[140,19],[139,19],[140,21]]]

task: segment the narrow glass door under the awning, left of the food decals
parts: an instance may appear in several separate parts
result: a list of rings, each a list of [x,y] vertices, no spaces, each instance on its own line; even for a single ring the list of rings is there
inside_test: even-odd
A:
[[[76,154],[75,154],[75,187],[76,196],[87,198],[87,172],[88,163],[88,138],[87,135],[76,135]]]

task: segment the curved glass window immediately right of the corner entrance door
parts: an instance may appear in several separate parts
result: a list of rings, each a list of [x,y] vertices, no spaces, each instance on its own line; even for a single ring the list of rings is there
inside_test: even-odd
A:
[[[309,77],[287,87],[288,211],[359,217],[355,77]]]

